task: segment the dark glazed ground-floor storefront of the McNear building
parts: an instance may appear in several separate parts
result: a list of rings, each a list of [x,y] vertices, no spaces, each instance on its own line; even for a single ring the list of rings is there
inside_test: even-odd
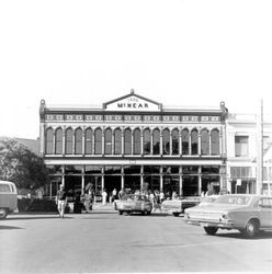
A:
[[[47,195],[55,196],[60,183],[71,197],[92,187],[97,196],[105,190],[107,201],[113,190],[121,189],[132,193],[147,189],[163,192],[166,197],[173,192],[179,196],[200,196],[211,189],[216,194],[224,187],[219,169],[220,165],[63,165],[61,173],[50,174]]]

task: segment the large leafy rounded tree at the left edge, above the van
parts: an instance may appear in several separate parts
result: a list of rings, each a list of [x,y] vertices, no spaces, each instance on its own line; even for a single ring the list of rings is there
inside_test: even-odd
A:
[[[43,158],[12,138],[0,138],[0,180],[36,190],[48,182]]]

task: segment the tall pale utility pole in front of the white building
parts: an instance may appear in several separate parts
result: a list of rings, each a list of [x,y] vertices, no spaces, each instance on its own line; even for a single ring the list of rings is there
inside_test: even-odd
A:
[[[263,183],[263,105],[262,99],[257,114],[257,181],[256,194],[262,194]]]

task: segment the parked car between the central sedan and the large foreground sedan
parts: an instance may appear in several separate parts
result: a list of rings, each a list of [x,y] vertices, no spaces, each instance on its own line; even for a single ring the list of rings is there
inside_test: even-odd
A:
[[[199,196],[188,196],[181,199],[166,199],[161,204],[161,210],[171,213],[173,216],[178,217],[180,214],[189,207],[196,206],[201,202]]]

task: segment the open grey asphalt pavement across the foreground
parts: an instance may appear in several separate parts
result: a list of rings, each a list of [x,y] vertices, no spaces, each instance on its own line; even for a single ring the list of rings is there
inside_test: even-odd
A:
[[[0,221],[0,273],[271,272],[272,233],[207,236],[156,213],[12,215]]]

